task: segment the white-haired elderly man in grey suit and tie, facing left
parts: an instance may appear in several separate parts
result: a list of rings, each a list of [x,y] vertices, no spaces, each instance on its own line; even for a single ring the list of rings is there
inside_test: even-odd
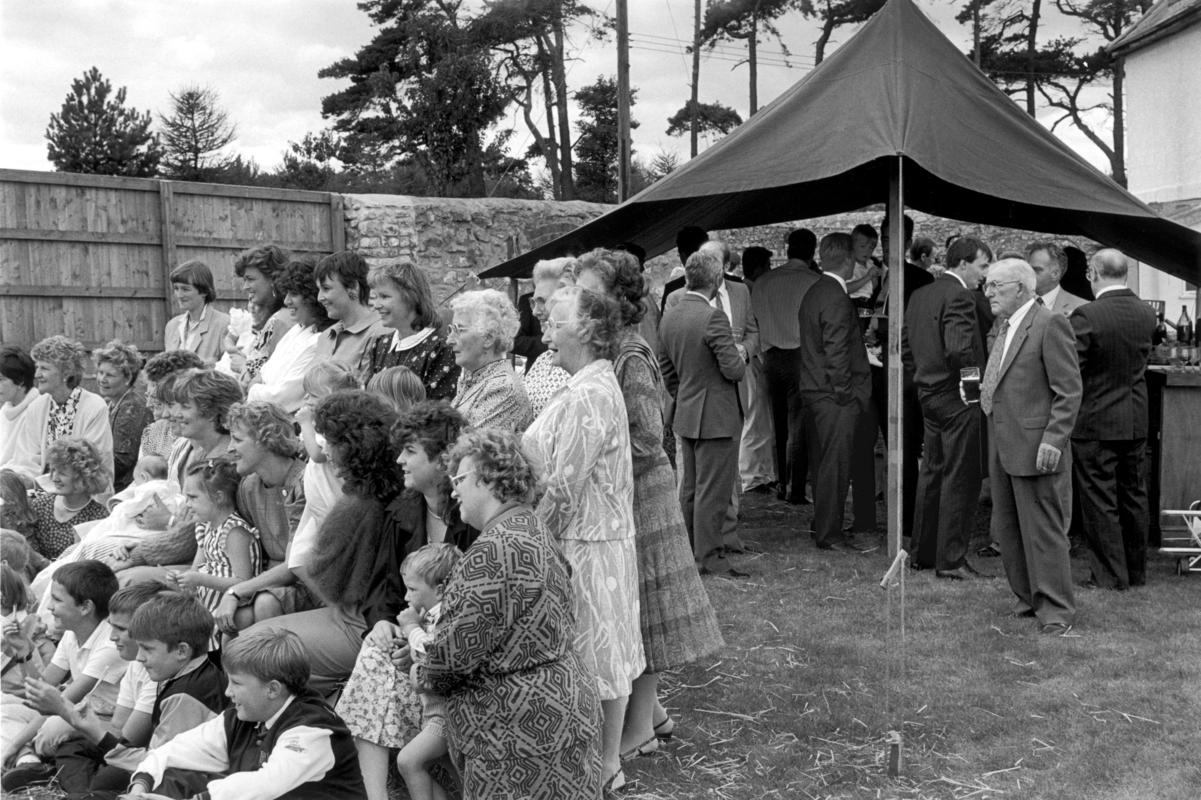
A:
[[[988,269],[985,293],[999,318],[980,386],[992,437],[992,536],[1015,614],[1062,635],[1076,619],[1068,556],[1071,454],[1080,365],[1068,320],[1040,305],[1034,270],[1020,258]]]

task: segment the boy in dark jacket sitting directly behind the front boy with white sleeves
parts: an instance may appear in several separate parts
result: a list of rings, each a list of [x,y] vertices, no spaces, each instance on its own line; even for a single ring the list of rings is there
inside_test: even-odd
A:
[[[35,692],[40,710],[59,714],[83,738],[55,752],[59,786],[115,796],[130,782],[147,746],[171,741],[226,708],[226,681],[208,657],[213,616],[196,598],[162,584],[136,584],[113,595],[109,626],[118,651],[137,658],[121,681],[112,724],[79,715],[53,687]]]

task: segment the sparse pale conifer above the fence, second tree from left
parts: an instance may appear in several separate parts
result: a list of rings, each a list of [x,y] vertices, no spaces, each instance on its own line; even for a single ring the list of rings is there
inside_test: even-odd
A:
[[[234,166],[240,177],[246,177],[240,159],[221,154],[234,141],[237,129],[219,101],[217,92],[209,88],[184,86],[171,94],[171,115],[160,114],[159,121],[162,162],[172,178],[217,180]]]

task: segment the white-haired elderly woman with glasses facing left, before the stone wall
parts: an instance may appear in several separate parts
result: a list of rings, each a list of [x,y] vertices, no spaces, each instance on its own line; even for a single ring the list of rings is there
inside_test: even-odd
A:
[[[461,372],[454,405],[472,428],[520,434],[533,419],[521,378],[504,357],[518,332],[518,311],[496,289],[465,292],[450,304],[449,341]]]

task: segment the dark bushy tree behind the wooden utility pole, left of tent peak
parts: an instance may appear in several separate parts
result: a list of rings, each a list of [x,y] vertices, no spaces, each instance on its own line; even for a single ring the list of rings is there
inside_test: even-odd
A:
[[[629,90],[634,106],[635,89]],[[575,92],[580,120],[575,124],[575,189],[580,199],[617,202],[617,82],[604,76]],[[631,130],[638,123],[629,120]]]

